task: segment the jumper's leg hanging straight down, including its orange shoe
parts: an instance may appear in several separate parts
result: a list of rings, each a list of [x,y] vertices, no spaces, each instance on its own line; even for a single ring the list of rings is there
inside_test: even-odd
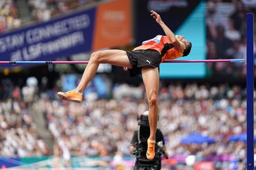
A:
[[[148,121],[150,122],[150,137],[147,142],[147,159],[153,159],[155,156],[155,140],[158,119],[157,96],[159,89],[159,71],[158,68],[144,66],[141,71],[142,79],[146,88],[146,95],[150,109],[148,111]]]

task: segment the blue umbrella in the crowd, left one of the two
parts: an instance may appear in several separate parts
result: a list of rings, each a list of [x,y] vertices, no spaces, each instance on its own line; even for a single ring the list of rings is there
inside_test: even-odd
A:
[[[215,140],[208,137],[208,136],[203,136],[200,133],[192,133],[186,136],[185,138],[181,139],[181,143],[184,144],[190,144],[190,143],[215,143]]]

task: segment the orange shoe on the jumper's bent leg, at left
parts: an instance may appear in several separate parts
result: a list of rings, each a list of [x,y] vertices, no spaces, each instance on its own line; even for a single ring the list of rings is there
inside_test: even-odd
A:
[[[82,93],[79,94],[76,89],[67,91],[67,92],[58,92],[59,98],[70,101],[70,102],[76,102],[80,103],[82,101]]]

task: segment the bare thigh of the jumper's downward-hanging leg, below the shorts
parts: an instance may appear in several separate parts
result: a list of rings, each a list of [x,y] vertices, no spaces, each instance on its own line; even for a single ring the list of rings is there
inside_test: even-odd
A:
[[[147,98],[152,94],[158,94],[159,71],[158,68],[143,66],[141,70],[142,79],[146,88]]]

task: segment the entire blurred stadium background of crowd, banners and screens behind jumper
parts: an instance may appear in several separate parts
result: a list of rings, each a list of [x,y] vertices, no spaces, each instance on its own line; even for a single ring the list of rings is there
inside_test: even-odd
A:
[[[193,43],[182,60],[246,57],[255,0],[1,0],[0,60],[88,61],[97,50],[133,50],[164,34],[150,10]],[[142,79],[100,64],[81,104],[58,99],[85,67],[0,65],[1,169],[132,168],[137,115],[148,110]],[[241,63],[161,64],[162,169],[246,169],[245,76]],[[211,140],[184,140],[194,133]]]

